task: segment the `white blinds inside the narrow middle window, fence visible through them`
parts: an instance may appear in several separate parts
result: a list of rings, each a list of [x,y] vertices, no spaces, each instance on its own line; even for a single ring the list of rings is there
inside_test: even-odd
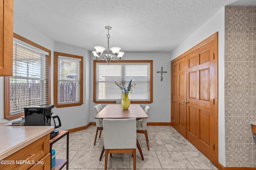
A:
[[[81,59],[58,55],[58,105],[80,102]]]

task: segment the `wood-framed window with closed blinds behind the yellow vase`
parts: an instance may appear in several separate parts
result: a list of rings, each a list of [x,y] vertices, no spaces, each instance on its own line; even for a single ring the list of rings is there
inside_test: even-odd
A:
[[[136,84],[129,94],[131,103],[147,104],[153,101],[152,60],[94,60],[94,90],[93,102],[116,103],[122,99],[122,92],[115,82],[128,86],[130,80]]]

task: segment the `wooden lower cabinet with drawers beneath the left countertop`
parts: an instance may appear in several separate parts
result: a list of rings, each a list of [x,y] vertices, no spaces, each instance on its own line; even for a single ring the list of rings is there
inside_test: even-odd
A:
[[[1,170],[50,170],[50,134],[38,139],[3,160]]]

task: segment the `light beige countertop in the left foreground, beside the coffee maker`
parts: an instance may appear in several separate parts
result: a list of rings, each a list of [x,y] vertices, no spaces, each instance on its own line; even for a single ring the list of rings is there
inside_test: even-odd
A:
[[[53,130],[54,126],[0,126],[0,160],[30,145]]]

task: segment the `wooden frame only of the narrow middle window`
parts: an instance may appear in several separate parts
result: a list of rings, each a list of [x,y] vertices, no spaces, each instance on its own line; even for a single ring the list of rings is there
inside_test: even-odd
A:
[[[68,104],[58,104],[58,56],[71,57],[76,59],[81,59],[80,63],[80,102],[79,103],[68,103]],[[72,107],[72,106],[81,106],[83,103],[83,62],[84,57],[66,53],[60,53],[54,51],[54,105],[57,108],[60,107]]]

